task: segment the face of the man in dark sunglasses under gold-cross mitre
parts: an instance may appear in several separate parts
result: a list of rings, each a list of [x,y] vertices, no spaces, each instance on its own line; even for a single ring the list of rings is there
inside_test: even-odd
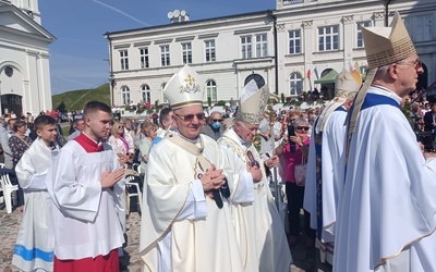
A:
[[[180,134],[189,139],[198,137],[205,121],[203,107],[199,104],[191,104],[174,110],[173,112],[174,125]]]

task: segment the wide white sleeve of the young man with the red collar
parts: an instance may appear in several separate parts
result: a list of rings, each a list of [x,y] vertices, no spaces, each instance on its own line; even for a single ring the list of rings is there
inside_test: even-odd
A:
[[[83,178],[76,176],[73,157],[70,149],[63,148],[55,159],[51,176],[52,199],[65,215],[93,222],[97,215],[101,197],[100,177],[98,181],[78,183],[77,181]]]

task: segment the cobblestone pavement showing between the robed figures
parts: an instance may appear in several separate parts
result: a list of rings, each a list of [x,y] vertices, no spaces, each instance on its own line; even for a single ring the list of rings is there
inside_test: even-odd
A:
[[[0,205],[0,271],[15,272],[19,271],[11,264],[12,250],[15,245],[16,234],[20,227],[22,213],[20,210],[14,210],[8,214],[4,205]],[[128,224],[128,243],[124,247],[128,254],[124,258],[126,269],[123,271],[137,272],[143,268],[142,260],[138,256],[140,247],[140,226],[141,218],[137,212],[132,212],[126,221]],[[291,265],[291,272],[298,271],[329,271],[328,269],[318,269],[319,263],[315,265],[313,262],[317,258],[315,250],[306,252],[304,249],[304,236],[301,237],[301,243],[295,248],[292,248],[292,257],[295,264]]]

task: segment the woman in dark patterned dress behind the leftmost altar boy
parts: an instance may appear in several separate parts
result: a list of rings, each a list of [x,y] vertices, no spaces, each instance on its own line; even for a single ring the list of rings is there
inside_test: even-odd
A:
[[[26,129],[27,129],[26,122],[24,122],[23,120],[16,121],[13,125],[14,134],[8,140],[9,147],[11,148],[11,152],[12,152],[13,171],[15,171],[15,166],[19,163],[21,157],[32,145],[31,137],[25,135]],[[21,188],[20,184],[19,184],[19,197],[17,198],[19,198],[17,206],[20,207],[20,210],[23,211],[24,193],[23,193],[23,189]]]

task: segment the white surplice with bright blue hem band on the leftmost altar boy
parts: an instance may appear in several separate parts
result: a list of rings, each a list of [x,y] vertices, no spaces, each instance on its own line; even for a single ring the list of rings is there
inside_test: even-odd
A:
[[[45,178],[52,164],[51,150],[39,137],[24,152],[15,166],[24,190],[25,207],[14,248],[12,264],[22,271],[53,270],[55,236],[51,220],[51,199]]]

